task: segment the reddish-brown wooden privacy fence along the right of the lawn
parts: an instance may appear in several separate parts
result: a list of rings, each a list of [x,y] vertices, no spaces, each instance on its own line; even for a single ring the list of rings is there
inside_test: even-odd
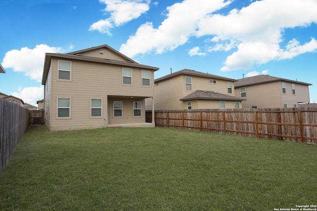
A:
[[[152,119],[147,112],[147,121]],[[157,127],[317,144],[317,108],[155,111]]]

